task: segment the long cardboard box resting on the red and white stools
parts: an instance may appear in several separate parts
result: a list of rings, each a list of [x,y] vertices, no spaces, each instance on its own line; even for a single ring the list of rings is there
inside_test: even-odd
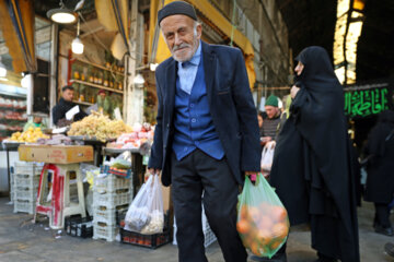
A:
[[[20,160],[51,164],[93,162],[91,145],[20,145]]]

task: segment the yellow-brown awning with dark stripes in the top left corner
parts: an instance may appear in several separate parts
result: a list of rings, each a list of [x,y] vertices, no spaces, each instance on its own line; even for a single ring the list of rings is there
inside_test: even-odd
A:
[[[0,1],[0,17],[5,45],[12,57],[13,71],[36,72],[33,1]]]

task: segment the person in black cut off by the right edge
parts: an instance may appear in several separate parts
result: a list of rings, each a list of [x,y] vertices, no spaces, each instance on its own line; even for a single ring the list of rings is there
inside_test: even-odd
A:
[[[367,187],[364,200],[374,203],[373,227],[376,233],[393,236],[389,204],[394,194],[394,111],[379,116],[367,144]]]

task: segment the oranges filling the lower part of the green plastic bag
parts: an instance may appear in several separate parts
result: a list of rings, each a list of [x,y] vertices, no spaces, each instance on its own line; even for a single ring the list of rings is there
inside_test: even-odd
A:
[[[243,245],[259,257],[275,254],[289,233],[286,209],[262,203],[258,206],[243,205],[239,212],[236,229]]]

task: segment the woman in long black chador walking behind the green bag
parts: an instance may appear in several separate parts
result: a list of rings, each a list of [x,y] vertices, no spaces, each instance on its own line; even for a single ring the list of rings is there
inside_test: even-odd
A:
[[[355,182],[343,87],[322,47],[308,47],[296,60],[293,102],[277,140],[270,183],[291,225],[311,225],[317,261],[358,262]]]

